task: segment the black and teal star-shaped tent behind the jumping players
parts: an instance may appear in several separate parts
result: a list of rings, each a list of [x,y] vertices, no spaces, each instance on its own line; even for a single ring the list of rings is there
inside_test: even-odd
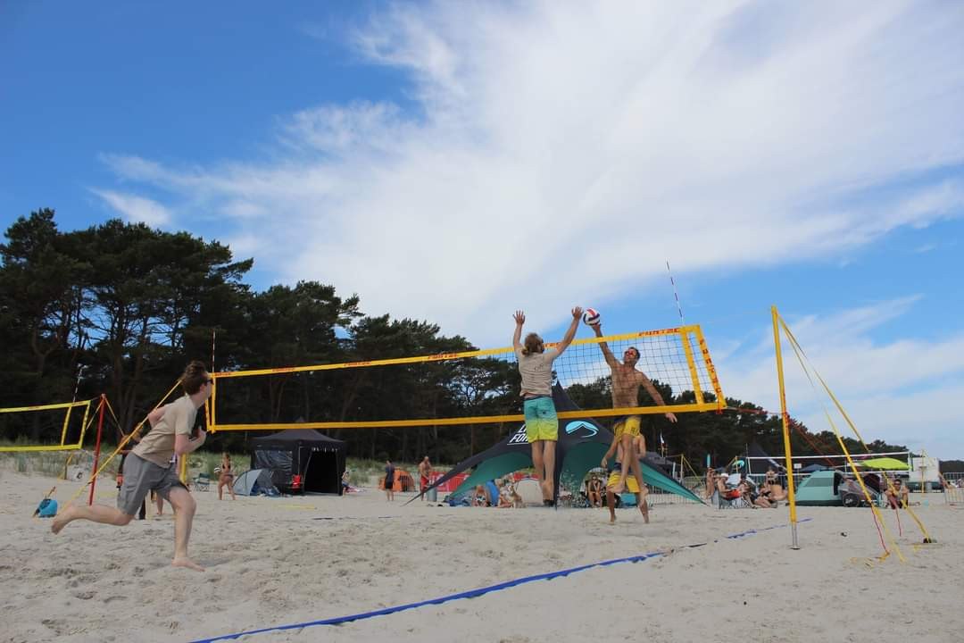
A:
[[[578,411],[576,404],[558,383],[552,387],[552,401],[555,403],[556,411]],[[610,443],[612,443],[612,432],[603,428],[603,425],[588,415],[560,419],[559,440],[555,445],[556,497],[553,499],[558,499],[560,483],[574,492],[577,491],[589,469],[600,466],[600,461],[603,460],[603,455]],[[644,458],[640,464],[646,484],[671,494],[703,502],[699,496],[666,475],[666,472],[656,463]],[[458,497],[474,489],[475,485],[485,484],[506,473],[529,467],[532,467],[532,447],[525,440],[525,425],[522,424],[516,432],[502,442],[460,462],[436,480],[429,489],[444,484],[466,469],[474,468],[469,477],[452,492],[452,496]]]

